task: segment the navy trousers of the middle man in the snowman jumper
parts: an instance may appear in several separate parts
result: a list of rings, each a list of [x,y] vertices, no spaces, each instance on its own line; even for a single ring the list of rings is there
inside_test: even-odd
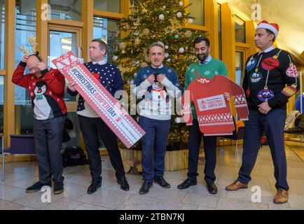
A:
[[[146,132],[142,144],[142,177],[146,181],[164,176],[165,153],[170,131],[170,120],[155,120],[139,116],[139,125]]]

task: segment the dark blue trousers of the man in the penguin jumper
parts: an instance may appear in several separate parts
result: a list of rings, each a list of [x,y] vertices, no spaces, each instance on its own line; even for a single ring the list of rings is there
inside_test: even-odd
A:
[[[63,184],[62,133],[64,117],[50,120],[34,119],[34,143],[39,165],[39,181],[49,184],[52,176],[55,185]]]

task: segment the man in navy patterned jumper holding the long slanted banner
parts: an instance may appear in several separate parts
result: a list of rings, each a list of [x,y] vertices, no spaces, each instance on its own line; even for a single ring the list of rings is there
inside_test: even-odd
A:
[[[123,78],[116,66],[106,62],[106,52],[107,45],[104,41],[99,39],[92,40],[90,44],[90,59],[92,62],[85,63],[85,66],[95,77],[99,77],[100,83],[102,83],[106,90],[114,97],[118,90],[123,90]],[[75,90],[75,85],[76,83],[71,83],[67,90],[72,96],[78,94]],[[109,152],[111,164],[116,171],[116,179],[120,184],[120,188],[125,191],[129,190],[116,135],[92,107],[85,102],[82,96],[78,99],[77,114],[85,141],[85,148],[88,152],[89,167],[92,176],[92,183],[88,188],[88,194],[95,193],[97,188],[102,185],[102,177],[100,176],[102,174],[102,162],[99,154],[98,134],[100,134],[106,150]]]

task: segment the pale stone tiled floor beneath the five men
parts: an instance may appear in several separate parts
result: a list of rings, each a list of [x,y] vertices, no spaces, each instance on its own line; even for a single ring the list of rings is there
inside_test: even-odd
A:
[[[88,166],[64,168],[64,193],[51,195],[50,203],[43,203],[43,193],[26,194],[25,188],[37,181],[36,162],[13,162],[6,164],[6,180],[0,183],[0,210],[2,209],[172,209],[172,210],[206,210],[206,209],[304,209],[304,162],[300,160],[286,144],[288,163],[288,181],[290,186],[289,202],[282,205],[272,203],[275,195],[275,179],[268,146],[261,149],[256,167],[252,173],[249,188],[237,192],[227,192],[224,188],[237,178],[241,165],[242,149],[237,151],[233,146],[217,148],[216,185],[217,195],[207,192],[203,179],[203,154],[198,167],[200,176],[197,186],[178,190],[177,185],[186,179],[187,170],[165,172],[165,179],[172,188],[163,189],[154,184],[147,195],[139,195],[141,176],[127,174],[130,191],[120,190],[116,183],[115,172],[108,156],[102,156],[102,188],[93,195],[86,190],[90,184]],[[299,148],[297,146],[297,148]],[[300,147],[304,151],[303,147]],[[261,202],[251,202],[253,186],[261,188]]]

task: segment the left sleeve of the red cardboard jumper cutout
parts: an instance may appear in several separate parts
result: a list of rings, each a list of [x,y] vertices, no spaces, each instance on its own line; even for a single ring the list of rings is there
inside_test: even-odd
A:
[[[191,111],[191,102],[193,100],[193,94],[191,92],[192,85],[190,84],[187,90],[184,92],[181,97],[181,107],[182,107],[182,116],[186,122],[186,125],[192,125],[192,111]]]

